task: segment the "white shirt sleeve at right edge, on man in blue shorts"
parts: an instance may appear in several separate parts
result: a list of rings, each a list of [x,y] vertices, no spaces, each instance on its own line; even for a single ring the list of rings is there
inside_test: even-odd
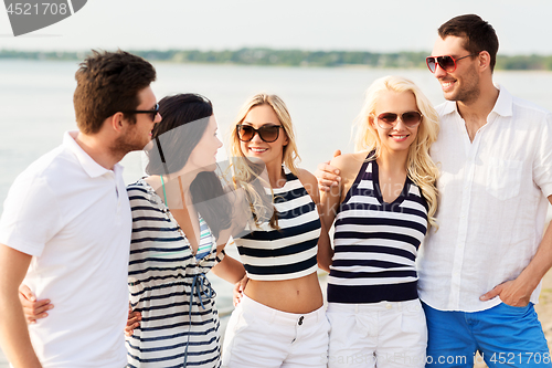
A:
[[[533,180],[545,197],[552,196],[552,113],[546,114],[539,132],[533,161]]]

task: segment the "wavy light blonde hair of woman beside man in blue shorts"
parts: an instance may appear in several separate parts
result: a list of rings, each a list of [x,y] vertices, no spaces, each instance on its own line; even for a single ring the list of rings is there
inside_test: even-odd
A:
[[[422,114],[422,123],[418,126],[415,140],[408,148],[406,172],[411,180],[420,187],[422,196],[427,201],[427,218],[431,227],[437,227],[435,212],[437,211],[437,166],[429,157],[429,147],[437,139],[439,133],[438,115],[429,99],[410,80],[401,76],[384,76],[375,80],[367,91],[362,109],[357,118],[357,135],[354,138],[354,150],[374,151],[371,159],[381,155],[381,140],[376,128],[373,126],[375,108],[380,95],[384,92],[411,92],[416,98],[416,105]]]

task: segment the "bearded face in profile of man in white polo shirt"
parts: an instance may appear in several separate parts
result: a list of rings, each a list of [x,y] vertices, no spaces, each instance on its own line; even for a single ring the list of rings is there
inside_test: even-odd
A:
[[[146,87],[138,93],[140,104],[137,111],[152,111],[157,104],[156,95],[151,87]],[[135,114],[136,124],[124,122],[125,130],[116,141],[116,149],[125,154],[132,150],[141,150],[151,140],[153,126],[161,122],[161,115],[157,114],[152,119],[151,114]]]

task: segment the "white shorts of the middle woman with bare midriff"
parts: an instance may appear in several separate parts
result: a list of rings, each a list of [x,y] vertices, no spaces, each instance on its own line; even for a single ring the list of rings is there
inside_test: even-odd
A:
[[[244,295],[226,327],[222,366],[326,368],[329,329],[323,306],[307,314],[286,313]]]

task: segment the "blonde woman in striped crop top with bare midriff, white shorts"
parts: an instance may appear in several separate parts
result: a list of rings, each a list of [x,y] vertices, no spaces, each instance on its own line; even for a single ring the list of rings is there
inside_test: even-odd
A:
[[[289,113],[275,95],[246,102],[235,120],[231,154],[234,181],[247,189],[253,160],[266,167],[274,210],[235,239],[248,282],[231,316],[223,367],[326,367],[329,324],[317,276],[317,255],[329,248],[320,221],[316,178],[296,167],[297,147]],[[251,198],[255,198],[252,190]],[[318,246],[326,242],[326,246]]]

